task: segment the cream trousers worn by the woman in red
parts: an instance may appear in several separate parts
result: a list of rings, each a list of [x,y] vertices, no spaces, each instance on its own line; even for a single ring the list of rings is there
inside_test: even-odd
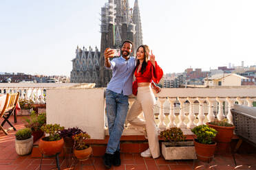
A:
[[[149,140],[149,149],[153,158],[160,156],[159,142],[158,142],[158,129],[155,123],[153,108],[156,104],[156,98],[150,86],[138,87],[138,94],[136,101],[131,106],[128,114],[127,121],[142,131],[146,128],[147,138]],[[138,115],[143,111],[145,120],[138,118]]]

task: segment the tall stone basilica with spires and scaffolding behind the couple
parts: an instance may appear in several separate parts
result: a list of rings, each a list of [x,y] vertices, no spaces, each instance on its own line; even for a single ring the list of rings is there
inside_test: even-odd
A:
[[[142,45],[142,26],[138,0],[134,8],[129,7],[128,0],[109,0],[101,8],[100,49],[76,49],[72,60],[73,68],[70,82],[96,83],[96,87],[105,87],[111,79],[111,71],[105,69],[104,51],[107,47],[120,48],[122,41],[134,42],[134,50]]]

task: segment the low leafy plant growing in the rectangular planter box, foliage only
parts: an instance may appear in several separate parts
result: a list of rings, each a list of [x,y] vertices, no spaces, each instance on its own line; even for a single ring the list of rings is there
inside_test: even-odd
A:
[[[171,127],[169,130],[164,130],[160,133],[160,136],[161,138],[164,138],[164,141],[169,141],[173,143],[186,140],[186,136],[183,135],[180,127]]]

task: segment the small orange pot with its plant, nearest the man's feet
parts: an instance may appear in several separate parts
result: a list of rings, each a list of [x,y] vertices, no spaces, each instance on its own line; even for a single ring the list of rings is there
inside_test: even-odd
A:
[[[75,134],[72,138],[74,139],[74,156],[78,160],[87,160],[92,154],[92,147],[86,144],[86,140],[90,138],[89,134],[82,132]]]

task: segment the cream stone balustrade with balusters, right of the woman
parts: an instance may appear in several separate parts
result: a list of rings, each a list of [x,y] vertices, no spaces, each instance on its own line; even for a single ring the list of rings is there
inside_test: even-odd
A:
[[[214,119],[233,123],[231,108],[235,103],[253,107],[256,88],[162,88],[156,97],[154,113],[160,130],[191,129]]]

